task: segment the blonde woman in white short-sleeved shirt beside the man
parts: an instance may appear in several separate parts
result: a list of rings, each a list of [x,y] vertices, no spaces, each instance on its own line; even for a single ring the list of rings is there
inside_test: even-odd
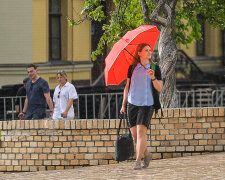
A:
[[[67,75],[65,71],[59,70],[56,74],[56,78],[59,82],[59,85],[56,86],[53,95],[53,119],[73,119],[73,100],[78,98],[77,91],[74,85],[67,81]]]

